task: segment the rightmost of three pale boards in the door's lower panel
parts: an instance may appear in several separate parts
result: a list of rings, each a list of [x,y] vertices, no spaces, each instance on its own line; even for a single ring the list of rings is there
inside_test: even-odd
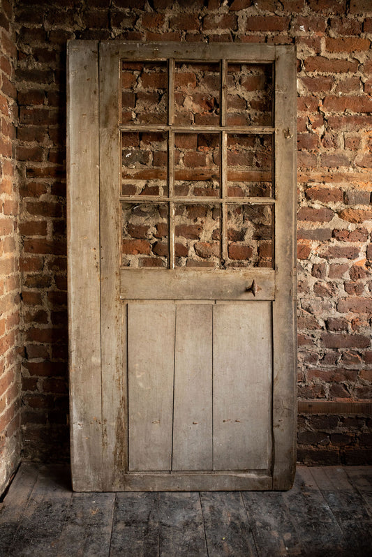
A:
[[[271,304],[217,304],[213,317],[214,470],[269,467]]]

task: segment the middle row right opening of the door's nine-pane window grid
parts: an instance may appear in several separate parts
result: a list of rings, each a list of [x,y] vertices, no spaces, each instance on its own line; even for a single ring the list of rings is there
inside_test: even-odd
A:
[[[228,195],[271,197],[272,135],[228,135]]]

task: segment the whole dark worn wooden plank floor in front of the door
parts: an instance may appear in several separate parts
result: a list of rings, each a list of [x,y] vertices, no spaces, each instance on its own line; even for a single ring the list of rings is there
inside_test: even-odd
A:
[[[0,556],[372,556],[372,466],[297,468],[286,493],[72,493],[66,466],[22,464]]]

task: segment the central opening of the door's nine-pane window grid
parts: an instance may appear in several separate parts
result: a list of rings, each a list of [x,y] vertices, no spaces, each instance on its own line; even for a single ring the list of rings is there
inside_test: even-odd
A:
[[[176,133],[174,135],[174,194],[220,195],[220,135]]]

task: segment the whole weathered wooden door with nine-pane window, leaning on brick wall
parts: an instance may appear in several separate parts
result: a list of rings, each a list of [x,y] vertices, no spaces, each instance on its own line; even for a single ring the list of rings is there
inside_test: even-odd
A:
[[[68,45],[76,490],[286,489],[295,52]]]

